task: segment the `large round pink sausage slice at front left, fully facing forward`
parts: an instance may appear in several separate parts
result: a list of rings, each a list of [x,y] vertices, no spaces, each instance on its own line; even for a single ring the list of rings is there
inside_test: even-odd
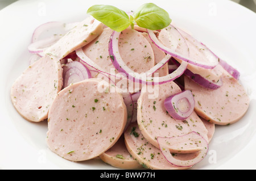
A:
[[[60,157],[84,161],[98,157],[121,136],[127,120],[118,92],[98,91],[94,78],[61,90],[49,110],[47,145]]]

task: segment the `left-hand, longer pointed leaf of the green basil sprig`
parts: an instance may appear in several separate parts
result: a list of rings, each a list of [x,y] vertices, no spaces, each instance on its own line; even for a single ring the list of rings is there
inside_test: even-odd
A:
[[[87,14],[118,32],[130,26],[130,19],[126,12],[114,6],[94,5],[88,9]]]

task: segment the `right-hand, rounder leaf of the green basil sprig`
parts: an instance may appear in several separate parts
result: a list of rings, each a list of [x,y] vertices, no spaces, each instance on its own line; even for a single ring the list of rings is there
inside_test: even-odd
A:
[[[134,20],[139,27],[161,30],[171,24],[171,19],[164,9],[154,3],[146,3],[134,12]]]

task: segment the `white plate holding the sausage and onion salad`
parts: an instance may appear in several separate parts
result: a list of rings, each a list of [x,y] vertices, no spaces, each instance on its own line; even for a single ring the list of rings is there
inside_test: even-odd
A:
[[[28,66],[27,47],[39,24],[82,20],[94,3],[130,11],[146,2],[22,0],[0,11],[1,169],[115,169],[99,159],[76,163],[49,151],[45,141],[47,121],[30,123],[22,119],[11,103],[10,87]],[[175,24],[240,70],[241,82],[251,98],[249,110],[238,123],[216,127],[208,157],[193,169],[256,169],[256,14],[227,0],[151,2],[167,10]]]

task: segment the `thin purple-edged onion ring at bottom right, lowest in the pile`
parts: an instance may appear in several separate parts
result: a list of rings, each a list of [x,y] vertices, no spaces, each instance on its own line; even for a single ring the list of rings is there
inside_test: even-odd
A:
[[[172,165],[179,167],[191,167],[202,161],[208,153],[208,142],[199,133],[190,132],[178,137],[158,137],[160,151],[164,158]],[[170,150],[176,150],[177,153],[197,153],[196,157],[188,160],[180,160],[171,153]],[[179,154],[177,154],[179,155]],[[176,158],[175,158],[176,157]]]

